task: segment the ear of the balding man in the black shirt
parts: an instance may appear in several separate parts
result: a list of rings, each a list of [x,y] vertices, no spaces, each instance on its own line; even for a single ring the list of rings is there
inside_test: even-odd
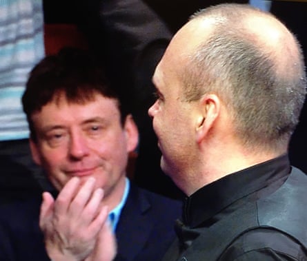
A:
[[[201,143],[214,126],[220,106],[221,102],[216,94],[206,94],[199,101],[199,114],[196,120],[197,143]]]

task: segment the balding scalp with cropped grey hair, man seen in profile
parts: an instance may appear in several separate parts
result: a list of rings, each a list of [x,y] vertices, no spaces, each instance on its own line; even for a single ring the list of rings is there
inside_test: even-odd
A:
[[[187,101],[217,94],[242,144],[286,152],[306,74],[299,44],[280,21],[248,5],[213,6],[191,17],[166,55],[174,48]]]

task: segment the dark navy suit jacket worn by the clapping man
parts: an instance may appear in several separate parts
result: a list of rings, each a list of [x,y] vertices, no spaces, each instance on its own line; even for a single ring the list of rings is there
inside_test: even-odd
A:
[[[0,207],[0,260],[49,260],[39,230],[41,198]],[[175,238],[181,203],[131,184],[117,225],[117,261],[159,260]]]

